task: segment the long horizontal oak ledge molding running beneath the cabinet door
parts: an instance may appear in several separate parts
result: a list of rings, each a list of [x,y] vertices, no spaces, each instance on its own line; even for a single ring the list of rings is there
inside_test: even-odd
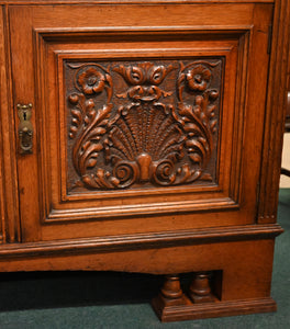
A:
[[[70,240],[51,240],[27,243],[8,243],[0,248],[0,257],[23,258],[83,252],[112,252],[152,247],[171,247],[200,243],[274,239],[283,232],[278,224],[213,227],[155,234],[119,235]]]

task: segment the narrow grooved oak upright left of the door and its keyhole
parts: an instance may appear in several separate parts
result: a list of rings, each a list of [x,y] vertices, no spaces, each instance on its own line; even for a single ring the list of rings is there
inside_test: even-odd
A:
[[[2,133],[2,175],[3,186],[3,242],[20,242],[21,226],[19,215],[19,192],[18,192],[18,168],[16,168],[16,145],[15,145],[15,114],[12,98],[12,71],[11,71],[11,48],[10,48],[10,24],[8,5],[1,8],[0,19],[1,38],[4,45],[0,48],[0,99],[1,99],[1,133]]]

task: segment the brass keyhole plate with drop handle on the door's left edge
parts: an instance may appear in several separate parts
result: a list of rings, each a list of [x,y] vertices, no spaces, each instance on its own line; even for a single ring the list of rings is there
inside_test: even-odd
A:
[[[31,123],[32,104],[18,104],[19,123],[19,149],[21,155],[32,154],[33,126]]]

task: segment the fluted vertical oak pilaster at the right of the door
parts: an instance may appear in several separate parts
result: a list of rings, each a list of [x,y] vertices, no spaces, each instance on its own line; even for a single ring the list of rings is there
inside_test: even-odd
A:
[[[287,61],[290,3],[276,2],[272,26],[270,71],[261,159],[259,223],[274,223],[277,216],[282,137],[287,104]]]

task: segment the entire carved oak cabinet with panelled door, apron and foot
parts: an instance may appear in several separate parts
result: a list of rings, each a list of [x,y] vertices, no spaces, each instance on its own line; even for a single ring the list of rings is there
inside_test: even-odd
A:
[[[0,3],[0,271],[166,274],[165,321],[274,310],[288,1]]]

